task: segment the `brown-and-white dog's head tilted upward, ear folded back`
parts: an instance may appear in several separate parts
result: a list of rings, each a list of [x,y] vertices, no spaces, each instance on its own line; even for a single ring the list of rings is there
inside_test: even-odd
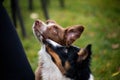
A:
[[[47,20],[46,23],[36,20],[33,24],[33,32],[40,42],[43,39],[51,39],[65,46],[71,45],[78,39],[83,30],[84,27],[80,25],[62,28],[53,20]]]

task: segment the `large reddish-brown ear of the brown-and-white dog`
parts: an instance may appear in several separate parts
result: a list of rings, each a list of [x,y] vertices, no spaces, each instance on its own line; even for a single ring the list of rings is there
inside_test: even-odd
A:
[[[84,30],[83,26],[75,25],[72,27],[69,27],[65,30],[65,42],[66,45],[71,45],[76,39],[80,37]]]

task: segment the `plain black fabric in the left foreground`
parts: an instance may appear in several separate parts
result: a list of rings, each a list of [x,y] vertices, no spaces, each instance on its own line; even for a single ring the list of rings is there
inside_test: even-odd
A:
[[[21,41],[0,2],[0,61],[2,80],[34,80]]]

